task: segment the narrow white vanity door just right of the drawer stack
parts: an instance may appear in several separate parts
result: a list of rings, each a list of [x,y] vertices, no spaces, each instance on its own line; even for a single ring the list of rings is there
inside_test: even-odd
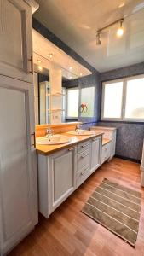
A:
[[[91,140],[89,165],[89,175],[101,165],[101,137]]]

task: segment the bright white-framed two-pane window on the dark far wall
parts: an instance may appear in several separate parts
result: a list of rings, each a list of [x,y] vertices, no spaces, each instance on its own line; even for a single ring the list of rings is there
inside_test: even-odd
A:
[[[102,84],[101,119],[144,121],[144,75]]]

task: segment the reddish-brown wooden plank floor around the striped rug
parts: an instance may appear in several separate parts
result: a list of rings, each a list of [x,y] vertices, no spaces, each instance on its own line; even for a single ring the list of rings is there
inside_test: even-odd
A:
[[[141,220],[135,248],[81,212],[104,177],[142,192]],[[113,159],[81,185],[49,219],[39,217],[36,229],[9,256],[144,256],[144,189],[140,165]]]

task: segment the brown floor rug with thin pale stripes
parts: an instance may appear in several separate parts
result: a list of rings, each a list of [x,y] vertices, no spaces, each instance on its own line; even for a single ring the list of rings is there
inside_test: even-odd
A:
[[[141,212],[140,192],[104,178],[82,212],[135,247]]]

